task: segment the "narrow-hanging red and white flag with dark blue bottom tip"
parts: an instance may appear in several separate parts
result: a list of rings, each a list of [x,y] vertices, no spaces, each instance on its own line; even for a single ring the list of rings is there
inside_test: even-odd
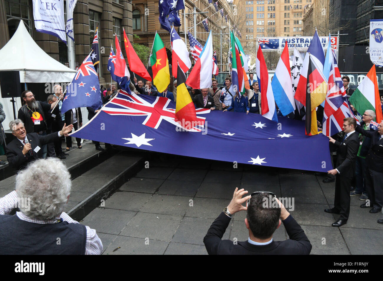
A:
[[[277,109],[275,109],[273,90],[271,88],[271,83],[268,79],[267,66],[266,66],[265,58],[262,54],[261,48],[258,48],[257,60],[255,61],[255,69],[257,72],[259,91],[261,92],[261,109],[262,109],[261,114],[263,117],[266,117],[267,119],[278,122]]]

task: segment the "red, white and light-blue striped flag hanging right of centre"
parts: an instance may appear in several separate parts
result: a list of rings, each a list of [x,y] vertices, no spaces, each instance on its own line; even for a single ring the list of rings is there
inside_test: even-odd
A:
[[[287,44],[285,44],[285,48],[279,58],[271,86],[275,102],[282,115],[286,116],[293,112],[295,110],[295,101],[293,88],[291,87],[290,59]]]

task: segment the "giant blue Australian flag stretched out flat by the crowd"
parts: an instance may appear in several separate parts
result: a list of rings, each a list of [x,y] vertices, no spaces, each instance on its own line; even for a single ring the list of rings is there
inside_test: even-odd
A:
[[[279,123],[260,114],[196,109],[189,132],[175,122],[175,102],[166,97],[118,93],[71,136],[149,151],[259,166],[327,172],[329,141],[306,136],[304,121]],[[185,126],[183,126],[185,127]]]

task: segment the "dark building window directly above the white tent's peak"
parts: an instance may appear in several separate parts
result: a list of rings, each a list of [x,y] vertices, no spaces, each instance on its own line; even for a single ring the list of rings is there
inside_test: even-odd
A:
[[[5,0],[5,13],[8,21],[8,32],[11,38],[19,26],[20,19],[26,24],[29,34],[32,35],[31,16],[28,0]]]

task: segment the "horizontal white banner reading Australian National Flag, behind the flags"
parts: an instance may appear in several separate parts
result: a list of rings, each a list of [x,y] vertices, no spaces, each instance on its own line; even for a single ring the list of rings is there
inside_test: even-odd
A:
[[[289,49],[293,49],[294,46],[296,49],[302,51],[307,51],[311,40],[313,37],[268,37],[268,38],[258,38],[258,44],[260,45],[262,50],[283,50],[285,45],[289,47]],[[327,45],[329,43],[329,37],[319,37],[321,41],[322,47],[324,50],[327,50]],[[331,48],[336,51],[338,47],[338,37],[331,37]]]

